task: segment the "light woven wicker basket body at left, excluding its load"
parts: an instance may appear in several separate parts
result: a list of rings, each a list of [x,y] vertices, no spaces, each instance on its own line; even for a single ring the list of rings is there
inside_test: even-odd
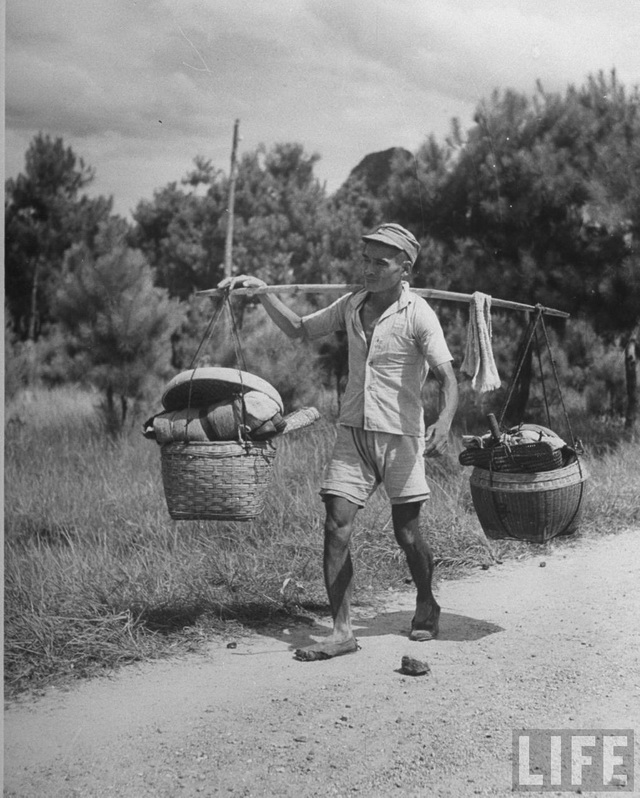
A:
[[[269,441],[167,443],[160,451],[175,521],[246,521],[264,509],[276,455]]]

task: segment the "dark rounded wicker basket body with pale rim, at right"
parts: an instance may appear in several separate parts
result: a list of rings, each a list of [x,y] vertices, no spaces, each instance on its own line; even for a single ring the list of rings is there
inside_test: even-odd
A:
[[[535,474],[474,468],[471,498],[488,538],[544,543],[576,531],[587,476],[579,461]]]

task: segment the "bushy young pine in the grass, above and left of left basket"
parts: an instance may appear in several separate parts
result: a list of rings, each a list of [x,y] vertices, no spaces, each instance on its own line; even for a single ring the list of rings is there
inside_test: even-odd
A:
[[[127,246],[126,233],[126,225],[111,220],[92,246],[68,252],[54,306],[76,375],[104,392],[118,423],[129,400],[148,396],[170,373],[170,338],[182,322],[179,303],[154,284],[153,270]]]

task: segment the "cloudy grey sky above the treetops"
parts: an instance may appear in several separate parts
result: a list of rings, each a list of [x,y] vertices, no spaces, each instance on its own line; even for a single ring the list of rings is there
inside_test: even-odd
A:
[[[38,132],[130,216],[204,156],[299,142],[336,190],[368,153],[463,130],[494,89],[615,69],[640,83],[640,0],[6,0],[5,177]]]

